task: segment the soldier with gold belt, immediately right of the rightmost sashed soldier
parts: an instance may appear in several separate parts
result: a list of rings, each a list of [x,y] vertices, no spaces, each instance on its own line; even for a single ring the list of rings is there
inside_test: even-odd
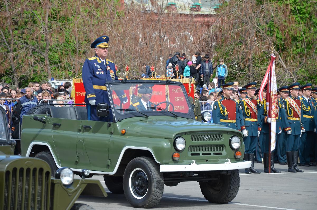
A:
[[[300,87],[303,95],[299,98],[301,100],[301,107],[303,109],[303,124],[304,131],[299,141],[299,165],[300,166],[315,166],[310,162],[310,149],[314,141],[314,107],[310,99],[312,95],[312,84],[308,83]]]

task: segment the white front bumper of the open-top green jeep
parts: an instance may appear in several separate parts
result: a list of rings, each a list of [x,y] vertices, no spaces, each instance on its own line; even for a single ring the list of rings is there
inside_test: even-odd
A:
[[[229,160],[229,159],[227,159]],[[160,172],[177,172],[177,171],[222,171],[249,168],[251,161],[242,161],[238,163],[231,163],[230,160],[225,163],[216,164],[199,164],[195,161],[190,165],[160,165]]]

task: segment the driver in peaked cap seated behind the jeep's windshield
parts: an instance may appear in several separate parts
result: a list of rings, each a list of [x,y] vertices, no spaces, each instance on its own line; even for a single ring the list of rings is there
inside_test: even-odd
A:
[[[140,85],[138,89],[141,98],[139,98],[138,102],[131,104],[130,108],[137,111],[155,111],[155,109],[150,108],[155,105],[150,102],[150,99],[152,98],[152,87],[153,85]]]

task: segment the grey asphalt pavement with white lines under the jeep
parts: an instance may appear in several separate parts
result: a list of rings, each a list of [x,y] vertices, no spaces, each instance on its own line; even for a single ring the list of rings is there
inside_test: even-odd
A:
[[[317,167],[300,167],[304,173],[288,173],[287,166],[275,164],[281,174],[266,174],[263,165],[255,163],[262,174],[244,174],[240,170],[240,188],[234,200],[228,204],[213,204],[204,199],[196,181],[181,182],[176,187],[165,185],[161,202],[153,209],[317,209]],[[124,195],[112,194],[100,180],[107,198],[81,196],[76,203],[85,203],[96,210],[134,209]]]

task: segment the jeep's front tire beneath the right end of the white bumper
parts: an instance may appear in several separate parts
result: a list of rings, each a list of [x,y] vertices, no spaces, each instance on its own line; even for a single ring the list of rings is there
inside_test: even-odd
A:
[[[232,201],[240,187],[240,176],[238,170],[232,170],[231,174],[219,176],[216,181],[200,181],[200,190],[205,199],[211,203],[228,203]]]

